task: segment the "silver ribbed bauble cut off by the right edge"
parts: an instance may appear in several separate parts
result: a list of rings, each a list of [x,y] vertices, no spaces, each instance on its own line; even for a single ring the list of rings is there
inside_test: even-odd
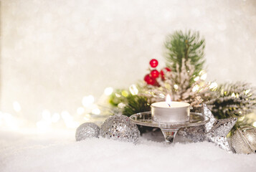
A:
[[[236,153],[256,153],[256,128],[244,126],[234,131],[230,139]]]

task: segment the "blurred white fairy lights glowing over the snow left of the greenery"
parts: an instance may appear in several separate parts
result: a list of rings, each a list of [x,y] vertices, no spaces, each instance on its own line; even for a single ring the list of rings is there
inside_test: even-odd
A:
[[[113,92],[113,87],[106,87],[104,95],[109,96]],[[19,102],[13,102],[15,113],[21,113],[22,106]],[[93,95],[87,95],[82,98],[82,106],[77,108],[77,116],[82,116],[79,120],[70,115],[67,110],[60,111],[61,113],[51,113],[49,110],[42,110],[42,118],[36,123],[31,123],[27,120],[19,118],[19,115],[5,113],[0,111],[0,128],[8,130],[19,130],[20,128],[32,127],[37,128],[39,131],[48,131],[53,128],[77,128],[81,121],[93,120],[91,117],[100,115],[101,111],[99,106],[95,103]]]

